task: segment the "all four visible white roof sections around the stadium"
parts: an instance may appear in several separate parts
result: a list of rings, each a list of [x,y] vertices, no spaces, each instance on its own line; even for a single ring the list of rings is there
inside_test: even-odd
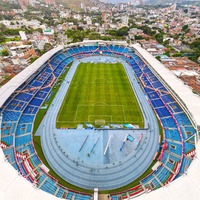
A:
[[[173,88],[173,90],[185,102],[186,106],[192,113],[195,121],[200,125],[200,98],[194,95],[188,86],[185,86],[173,73],[166,69],[159,61],[157,61],[146,50],[138,45],[133,47],[150,63],[158,74]],[[15,76],[9,83],[0,88],[0,107],[7,98],[27,80],[38,68],[46,62],[54,53],[61,50],[59,46],[32,65]],[[153,192],[143,194],[136,197],[136,200],[199,200],[200,197],[200,143],[197,144],[197,156],[191,163],[187,174],[176,179],[165,187]],[[22,177],[18,172],[6,161],[5,155],[0,148],[0,199],[2,200],[54,200],[57,197],[50,195],[40,189],[34,187],[28,180]]]

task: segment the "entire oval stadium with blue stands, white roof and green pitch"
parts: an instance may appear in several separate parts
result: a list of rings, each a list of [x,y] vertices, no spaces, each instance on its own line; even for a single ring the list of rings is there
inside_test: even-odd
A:
[[[0,199],[198,199],[199,105],[138,44],[58,46],[0,88]]]

